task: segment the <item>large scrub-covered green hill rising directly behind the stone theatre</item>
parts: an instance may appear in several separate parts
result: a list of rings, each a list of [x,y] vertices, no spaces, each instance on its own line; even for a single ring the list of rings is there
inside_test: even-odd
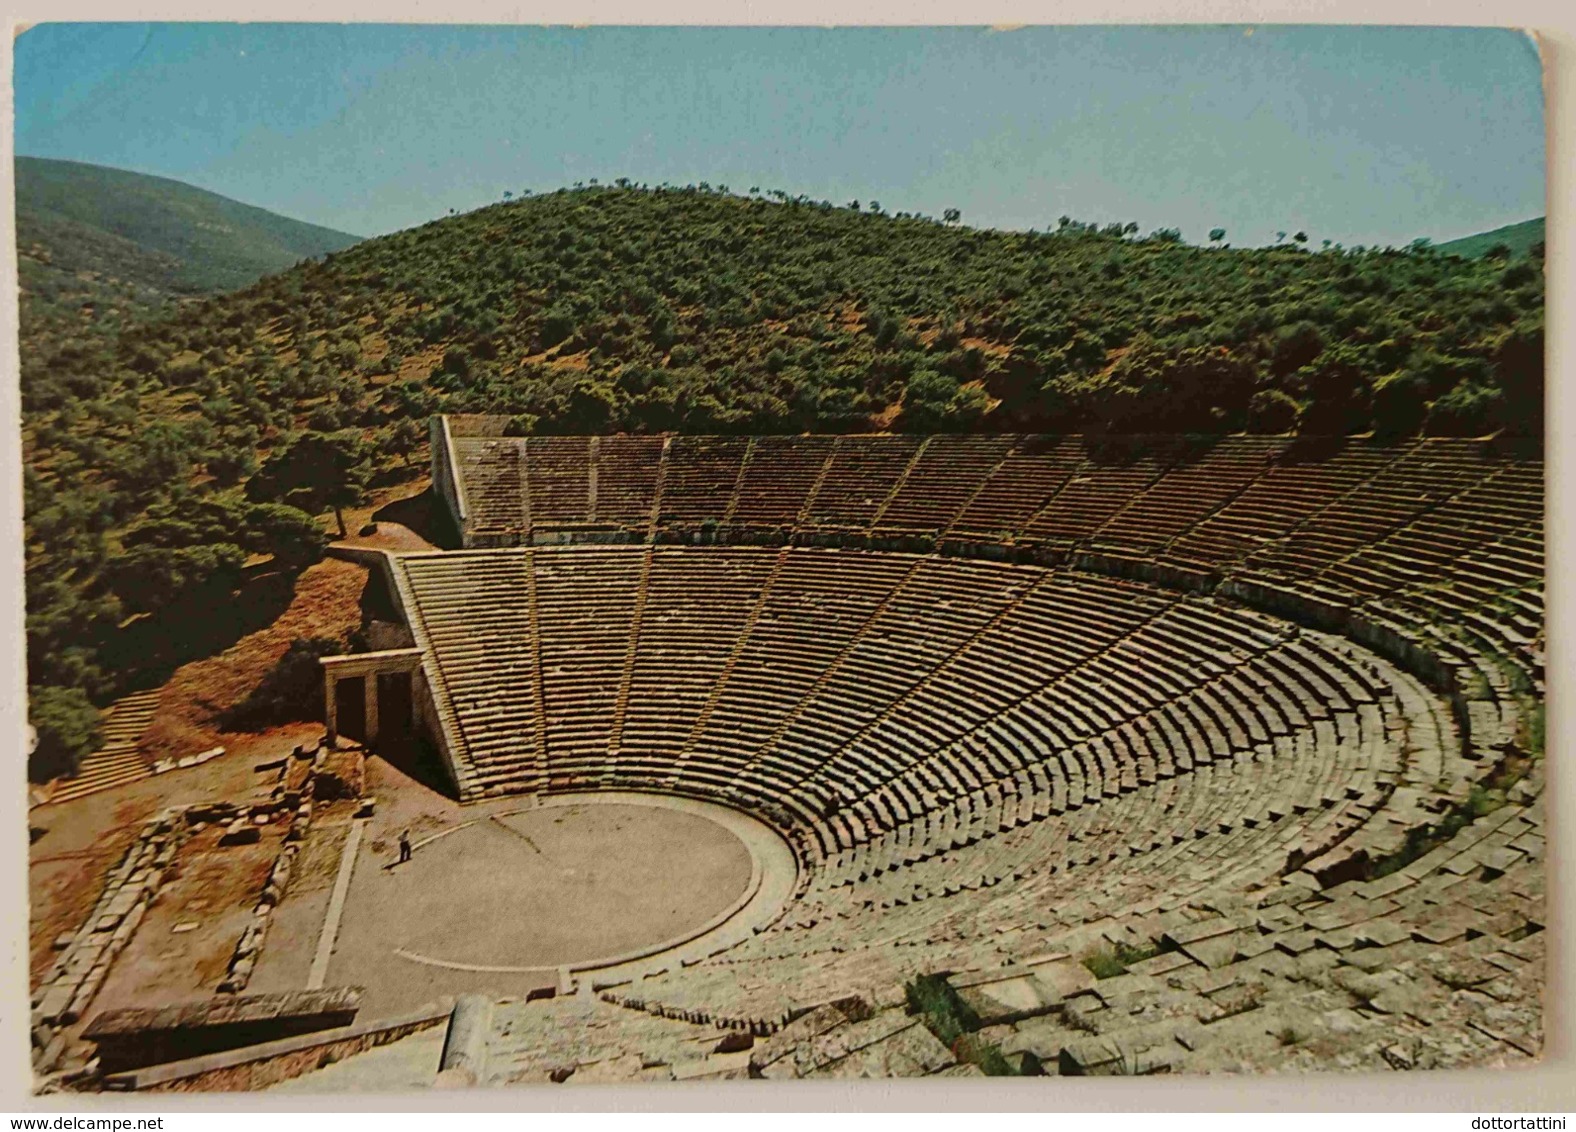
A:
[[[558,191],[30,350],[32,683],[123,687],[117,626],[247,555],[310,555],[288,505],[419,464],[435,411],[539,432],[1541,430],[1537,259],[854,203]]]

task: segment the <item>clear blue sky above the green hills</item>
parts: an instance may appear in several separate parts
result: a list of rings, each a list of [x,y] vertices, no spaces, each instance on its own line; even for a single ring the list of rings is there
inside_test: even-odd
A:
[[[358,235],[593,177],[1237,244],[1544,211],[1538,60],[1508,30],[46,24],[16,120],[17,153]]]

